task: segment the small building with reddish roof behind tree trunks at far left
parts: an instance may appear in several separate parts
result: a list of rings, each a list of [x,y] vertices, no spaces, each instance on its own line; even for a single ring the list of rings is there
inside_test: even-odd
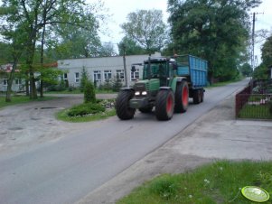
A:
[[[5,64],[0,66],[0,91],[6,91],[7,89],[7,80],[8,73],[13,70],[12,64]],[[19,70],[15,70],[15,72],[19,72]],[[19,77],[15,77],[13,80],[12,90],[15,92],[24,91],[23,79]]]

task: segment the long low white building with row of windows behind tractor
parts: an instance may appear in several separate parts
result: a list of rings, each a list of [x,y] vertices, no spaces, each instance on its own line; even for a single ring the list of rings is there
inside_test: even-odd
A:
[[[160,57],[161,53],[155,52],[151,57]],[[135,72],[131,72],[133,63],[143,63],[148,59],[148,55],[126,56],[127,83],[131,85],[135,79],[142,76],[142,67],[136,67]],[[89,79],[96,82],[97,86],[104,84],[107,79],[116,77],[125,84],[124,60],[122,56],[101,57],[88,59],[58,60],[58,69],[65,70],[64,80],[68,80],[71,87],[80,86],[80,75],[83,70],[87,70]]]

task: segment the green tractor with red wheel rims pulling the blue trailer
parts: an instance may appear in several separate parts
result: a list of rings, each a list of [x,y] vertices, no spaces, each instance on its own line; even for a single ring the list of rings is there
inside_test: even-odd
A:
[[[116,100],[117,116],[132,119],[136,109],[149,113],[155,107],[158,120],[169,120],[175,113],[187,110],[188,79],[177,75],[178,63],[171,58],[149,58],[144,61],[143,79],[134,88],[122,88]],[[131,71],[135,71],[133,65]]]

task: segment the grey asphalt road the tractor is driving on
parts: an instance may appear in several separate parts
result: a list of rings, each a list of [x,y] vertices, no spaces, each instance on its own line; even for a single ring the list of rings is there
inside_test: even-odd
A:
[[[159,122],[154,114],[86,123],[60,140],[0,155],[0,203],[74,203],[154,151],[248,81],[211,88],[204,103]],[[72,125],[72,124],[71,124]],[[126,187],[124,187],[126,188]]]

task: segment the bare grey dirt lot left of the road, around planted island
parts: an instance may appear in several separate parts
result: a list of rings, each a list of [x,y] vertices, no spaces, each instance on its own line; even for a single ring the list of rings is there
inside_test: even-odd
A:
[[[55,113],[83,103],[83,95],[51,95],[47,101],[33,101],[0,109],[0,153],[20,153],[35,144],[56,141],[84,124],[58,121]],[[98,98],[116,97],[100,94]]]

